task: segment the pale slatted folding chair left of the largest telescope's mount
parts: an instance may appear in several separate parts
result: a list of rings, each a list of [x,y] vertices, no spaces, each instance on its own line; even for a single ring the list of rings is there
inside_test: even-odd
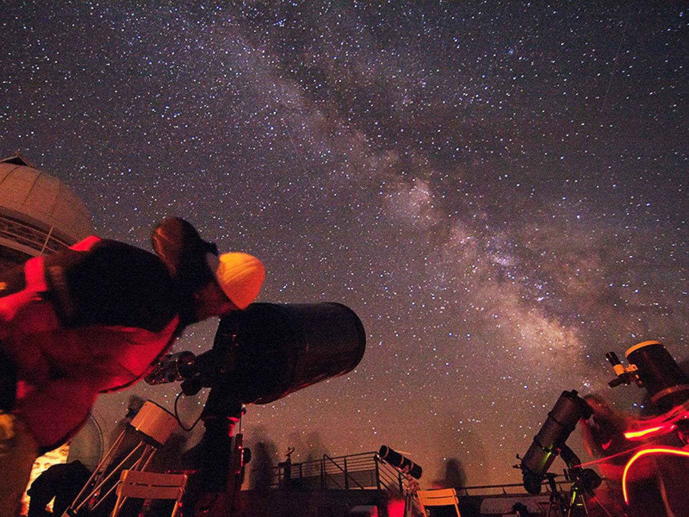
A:
[[[116,517],[127,497],[138,499],[174,499],[172,516],[175,517],[181,505],[184,489],[187,485],[187,474],[158,474],[123,470],[120,483],[117,485],[117,500],[112,509]]]

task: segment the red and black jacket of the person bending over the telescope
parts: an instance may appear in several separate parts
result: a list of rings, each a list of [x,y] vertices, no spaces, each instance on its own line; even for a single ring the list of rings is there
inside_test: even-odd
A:
[[[43,449],[81,427],[99,393],[138,381],[172,344],[179,297],[163,263],[91,236],[30,259],[0,298],[0,352],[17,369],[20,416]],[[12,282],[2,290],[12,291]]]

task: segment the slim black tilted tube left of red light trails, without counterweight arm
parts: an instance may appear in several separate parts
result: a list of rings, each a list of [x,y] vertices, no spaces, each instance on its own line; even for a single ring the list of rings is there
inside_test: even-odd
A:
[[[529,494],[540,493],[544,476],[577,426],[579,418],[586,420],[591,414],[593,409],[574,389],[562,392],[522,458],[520,467],[524,475],[524,488]]]

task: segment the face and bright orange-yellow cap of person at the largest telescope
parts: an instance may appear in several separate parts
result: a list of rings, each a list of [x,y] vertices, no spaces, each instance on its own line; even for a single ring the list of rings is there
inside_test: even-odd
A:
[[[263,263],[246,253],[208,254],[214,280],[194,292],[196,320],[245,309],[265,279]]]

